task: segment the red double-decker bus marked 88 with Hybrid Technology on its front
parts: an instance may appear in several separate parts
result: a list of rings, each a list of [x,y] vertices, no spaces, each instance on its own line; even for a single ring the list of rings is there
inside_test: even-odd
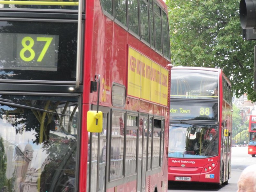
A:
[[[221,69],[173,67],[168,180],[227,184],[232,92]]]

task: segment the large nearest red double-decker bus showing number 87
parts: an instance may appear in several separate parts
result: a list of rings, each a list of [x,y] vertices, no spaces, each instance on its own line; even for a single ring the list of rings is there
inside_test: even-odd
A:
[[[162,0],[0,1],[0,190],[166,191]]]

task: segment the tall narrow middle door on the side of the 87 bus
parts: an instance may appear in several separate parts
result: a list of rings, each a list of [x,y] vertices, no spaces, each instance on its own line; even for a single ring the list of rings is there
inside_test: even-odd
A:
[[[140,116],[137,192],[145,192],[146,168],[147,168],[147,135],[148,135],[147,133],[148,133],[148,117]]]

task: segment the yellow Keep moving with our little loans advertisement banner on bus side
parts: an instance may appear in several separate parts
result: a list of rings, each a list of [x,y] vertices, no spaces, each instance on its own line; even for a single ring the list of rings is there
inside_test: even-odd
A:
[[[127,94],[167,106],[169,71],[129,47]]]

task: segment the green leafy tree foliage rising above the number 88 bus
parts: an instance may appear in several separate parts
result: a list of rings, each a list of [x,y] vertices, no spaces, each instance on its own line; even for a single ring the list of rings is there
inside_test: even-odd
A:
[[[240,0],[166,0],[174,66],[222,68],[239,97],[256,101],[253,41],[243,40]]]

